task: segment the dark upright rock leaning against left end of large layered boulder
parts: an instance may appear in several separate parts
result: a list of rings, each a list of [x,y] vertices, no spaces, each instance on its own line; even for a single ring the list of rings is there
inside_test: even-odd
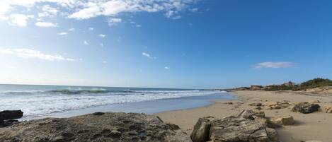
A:
[[[207,118],[200,118],[195,124],[190,138],[193,142],[209,141],[210,139],[210,120]]]

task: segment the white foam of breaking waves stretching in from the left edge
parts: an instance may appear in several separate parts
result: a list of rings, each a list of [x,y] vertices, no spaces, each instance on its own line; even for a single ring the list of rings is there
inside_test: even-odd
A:
[[[112,105],[127,102],[168,99],[222,93],[210,90],[136,90],[100,94],[64,95],[54,93],[32,93],[30,95],[0,93],[1,110],[22,110],[25,117],[65,112],[86,107]]]

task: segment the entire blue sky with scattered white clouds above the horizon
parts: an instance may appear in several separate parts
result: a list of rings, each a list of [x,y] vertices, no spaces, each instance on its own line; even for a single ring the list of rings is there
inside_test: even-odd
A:
[[[233,88],[332,78],[332,1],[0,0],[0,83]]]

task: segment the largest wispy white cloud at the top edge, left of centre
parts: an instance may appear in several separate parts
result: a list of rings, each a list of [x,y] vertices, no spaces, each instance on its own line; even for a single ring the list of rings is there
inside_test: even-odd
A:
[[[168,18],[179,18],[178,13],[190,7],[195,0],[110,0],[86,1],[81,9],[72,13],[69,18],[88,19],[96,16],[118,16],[120,13],[166,12]]]

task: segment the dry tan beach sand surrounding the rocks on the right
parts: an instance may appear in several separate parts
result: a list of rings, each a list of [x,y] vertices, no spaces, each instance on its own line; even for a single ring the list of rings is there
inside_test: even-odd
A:
[[[199,107],[189,110],[177,110],[170,112],[161,112],[156,115],[161,117],[164,122],[177,124],[186,133],[193,131],[193,126],[200,117],[226,117],[233,114],[239,114],[242,110],[251,110],[248,104],[253,102],[265,101],[290,101],[294,102],[312,102],[319,100],[319,105],[332,105],[332,97],[303,95],[299,93],[283,92],[267,92],[267,91],[234,91],[231,94],[238,97],[237,100],[214,100],[212,105]],[[225,102],[233,102],[229,105]],[[282,126],[276,129],[280,141],[282,142],[300,142],[300,141],[332,141],[332,113],[314,112],[311,114],[301,114],[292,112],[290,108],[281,110],[264,110],[266,117],[282,117],[291,115],[294,117],[295,124],[292,126]]]

